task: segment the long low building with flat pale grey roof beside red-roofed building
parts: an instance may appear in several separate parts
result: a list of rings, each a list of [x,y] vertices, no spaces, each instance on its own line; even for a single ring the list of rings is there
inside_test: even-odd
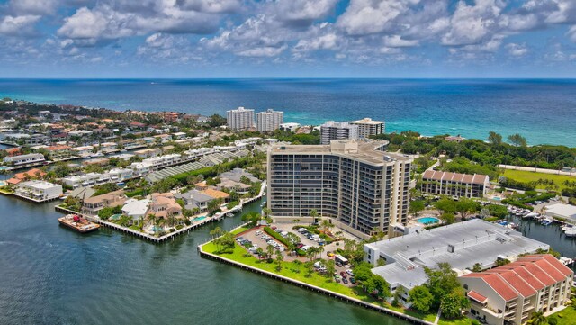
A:
[[[428,280],[424,267],[436,268],[446,262],[464,274],[480,264],[483,269],[496,266],[499,259],[516,260],[549,245],[522,236],[498,224],[480,219],[459,222],[431,230],[419,230],[392,239],[365,244],[365,259],[374,266],[382,259],[385,266],[372,269],[390,284],[392,292],[403,287],[408,293]]]

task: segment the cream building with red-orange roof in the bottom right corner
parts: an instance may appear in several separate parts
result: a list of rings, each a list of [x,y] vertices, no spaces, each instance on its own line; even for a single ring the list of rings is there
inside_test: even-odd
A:
[[[520,257],[514,263],[458,278],[471,302],[470,315],[488,324],[523,324],[535,311],[570,301],[572,270],[552,255]]]

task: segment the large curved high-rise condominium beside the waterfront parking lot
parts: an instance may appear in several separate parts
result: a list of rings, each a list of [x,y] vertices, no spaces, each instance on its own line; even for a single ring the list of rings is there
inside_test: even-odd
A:
[[[268,151],[268,208],[276,221],[320,217],[360,237],[406,223],[410,165],[387,141],[334,140]],[[311,220],[310,220],[311,221]]]

